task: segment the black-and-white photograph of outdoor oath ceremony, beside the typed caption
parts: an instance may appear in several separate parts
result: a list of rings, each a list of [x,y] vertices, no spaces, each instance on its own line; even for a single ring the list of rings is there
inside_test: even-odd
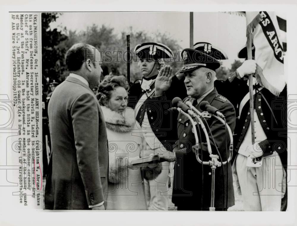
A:
[[[45,209],[286,211],[286,48],[284,12],[42,13]]]

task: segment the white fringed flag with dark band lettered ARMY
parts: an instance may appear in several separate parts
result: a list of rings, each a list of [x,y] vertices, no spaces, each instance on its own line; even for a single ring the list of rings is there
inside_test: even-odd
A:
[[[247,30],[253,27],[257,81],[274,95],[279,95],[286,85],[284,75],[283,42],[275,12],[246,12]],[[252,25],[252,26],[249,26]]]

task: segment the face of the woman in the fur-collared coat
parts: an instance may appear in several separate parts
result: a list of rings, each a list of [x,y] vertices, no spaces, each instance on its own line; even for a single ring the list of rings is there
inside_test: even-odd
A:
[[[112,111],[119,113],[124,112],[127,107],[128,94],[124,87],[116,87],[112,91],[110,100],[108,101],[108,107]]]

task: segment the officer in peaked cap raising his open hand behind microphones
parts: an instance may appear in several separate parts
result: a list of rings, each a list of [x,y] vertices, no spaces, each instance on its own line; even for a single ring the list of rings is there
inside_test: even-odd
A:
[[[214,57],[195,49],[184,49],[182,51],[184,66],[180,73],[184,73],[184,85],[190,101],[200,112],[199,103],[208,101],[211,106],[217,108],[225,115],[226,122],[231,130],[235,127],[235,109],[233,105],[223,96],[219,95],[214,87],[215,70],[220,63]],[[156,98],[161,100],[170,86],[170,71],[161,69],[156,80]],[[167,70],[166,72],[164,72]],[[230,137],[225,133],[225,126],[219,120],[204,112],[206,122],[209,125],[208,136],[211,150],[215,155],[220,154],[219,161],[227,161],[229,157],[226,146],[229,147]],[[173,120],[177,133],[177,141],[173,146],[174,153],[159,153],[166,161],[175,161],[172,202],[178,210],[209,210],[211,206],[211,168],[202,165],[196,160],[192,147],[195,145],[195,136],[189,118],[179,113]],[[201,130],[202,131],[202,130]],[[211,135],[212,134],[212,135]],[[209,161],[206,137],[201,135],[200,148],[198,150],[202,161]],[[213,138],[213,139],[212,139]],[[226,145],[227,144],[227,145]],[[217,152],[219,151],[219,153]],[[228,152],[229,153],[229,152]],[[234,205],[234,191],[231,164],[221,165],[215,169],[214,207],[216,210],[227,210]]]

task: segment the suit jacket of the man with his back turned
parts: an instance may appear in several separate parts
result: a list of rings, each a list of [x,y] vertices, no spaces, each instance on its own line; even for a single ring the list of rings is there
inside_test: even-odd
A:
[[[108,150],[105,120],[92,90],[68,77],[48,104],[52,154],[46,209],[89,209],[106,200]]]

